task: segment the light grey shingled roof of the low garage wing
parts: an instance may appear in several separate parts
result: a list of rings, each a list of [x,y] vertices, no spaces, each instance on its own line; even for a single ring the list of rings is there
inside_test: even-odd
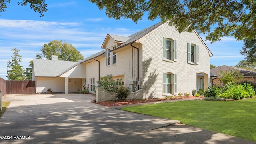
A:
[[[35,77],[57,77],[77,62],[33,59]]]

